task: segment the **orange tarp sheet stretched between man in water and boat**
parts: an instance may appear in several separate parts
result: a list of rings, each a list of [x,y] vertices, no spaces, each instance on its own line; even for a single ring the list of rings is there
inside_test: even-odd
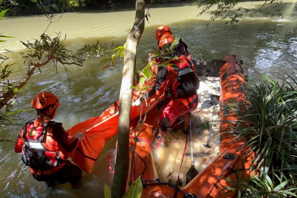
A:
[[[155,81],[150,84],[153,86]],[[149,89],[147,90],[149,91]],[[161,91],[161,93],[164,93]],[[133,91],[132,102],[138,98],[138,91]],[[147,100],[148,112],[153,109],[164,96],[151,97]],[[142,114],[146,111],[146,105],[142,104]],[[131,107],[130,120],[140,115],[141,105]],[[79,142],[76,150],[72,153],[72,161],[83,171],[91,173],[99,153],[105,143],[118,131],[119,101],[111,105],[101,115],[90,118],[89,120],[78,123],[67,130],[69,137],[74,138],[79,132],[85,134],[85,139]]]

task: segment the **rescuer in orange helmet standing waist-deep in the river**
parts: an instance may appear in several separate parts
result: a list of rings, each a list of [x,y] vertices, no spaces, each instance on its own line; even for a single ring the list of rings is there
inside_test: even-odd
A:
[[[37,110],[37,118],[25,124],[15,141],[15,152],[22,153],[22,160],[30,167],[33,177],[47,182],[48,186],[76,184],[82,176],[82,170],[67,158],[84,139],[84,134],[78,133],[69,142],[62,123],[50,121],[59,106],[54,94],[38,93],[31,102],[31,107]]]

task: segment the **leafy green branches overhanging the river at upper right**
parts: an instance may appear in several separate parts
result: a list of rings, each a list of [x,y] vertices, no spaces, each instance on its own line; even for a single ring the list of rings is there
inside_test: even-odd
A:
[[[282,4],[282,0],[271,0],[265,1],[261,7],[252,8],[252,4],[250,7],[241,7],[237,6],[238,3],[242,2],[241,0],[198,0],[198,8],[202,8],[199,15],[202,15],[204,12],[208,11],[211,7],[217,6],[217,9],[211,11],[211,21],[216,19],[229,19],[230,23],[238,22],[240,18],[247,15],[248,17],[252,18],[257,13],[262,13],[263,16],[274,16],[278,15],[279,17],[282,16],[282,12],[279,9],[279,6]],[[253,2],[253,1],[252,1]],[[273,11],[263,11],[264,5],[272,6],[274,9]],[[198,16],[199,16],[198,15]],[[225,24],[227,24],[226,22]]]

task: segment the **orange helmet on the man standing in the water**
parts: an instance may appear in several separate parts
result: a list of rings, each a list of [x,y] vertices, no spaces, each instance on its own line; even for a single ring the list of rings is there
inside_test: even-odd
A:
[[[36,94],[32,99],[31,108],[44,109],[48,105],[53,104],[56,107],[60,106],[59,99],[53,93],[42,91]]]

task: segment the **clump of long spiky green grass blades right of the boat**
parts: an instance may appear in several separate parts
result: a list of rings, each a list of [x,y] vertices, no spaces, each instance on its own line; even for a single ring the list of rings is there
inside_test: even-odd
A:
[[[260,172],[248,180],[232,182],[238,197],[297,197],[297,83],[290,76],[278,82],[268,77],[247,86],[245,99],[225,107],[233,142],[254,153],[251,170]]]

